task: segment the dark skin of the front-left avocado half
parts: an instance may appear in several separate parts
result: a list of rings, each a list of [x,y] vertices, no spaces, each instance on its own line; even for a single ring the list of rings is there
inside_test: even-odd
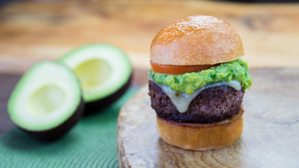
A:
[[[55,140],[67,133],[81,119],[84,113],[84,107],[85,104],[83,102],[83,98],[81,98],[80,104],[78,105],[77,110],[74,112],[74,114],[64,123],[55,128],[46,131],[29,131],[23,128],[20,129],[37,139],[46,141]]]

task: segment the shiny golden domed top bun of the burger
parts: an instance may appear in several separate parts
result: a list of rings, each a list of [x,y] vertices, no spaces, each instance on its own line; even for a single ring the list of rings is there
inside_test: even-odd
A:
[[[190,16],[164,27],[154,37],[150,59],[164,65],[205,65],[244,55],[240,36],[213,16]]]

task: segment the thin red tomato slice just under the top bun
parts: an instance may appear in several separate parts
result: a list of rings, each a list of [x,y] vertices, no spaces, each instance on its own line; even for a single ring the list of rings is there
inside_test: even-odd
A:
[[[191,72],[199,72],[202,70],[210,69],[211,67],[215,67],[220,65],[220,63],[216,63],[213,65],[163,65],[159,63],[154,63],[150,61],[150,68],[154,72],[158,73],[166,73],[172,75],[181,75],[184,73]]]

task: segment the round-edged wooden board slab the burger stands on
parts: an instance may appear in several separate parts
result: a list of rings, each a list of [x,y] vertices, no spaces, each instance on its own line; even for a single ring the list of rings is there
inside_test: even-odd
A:
[[[244,96],[244,131],[230,147],[187,151],[164,142],[144,86],[121,109],[120,167],[298,167],[299,69],[253,69]]]

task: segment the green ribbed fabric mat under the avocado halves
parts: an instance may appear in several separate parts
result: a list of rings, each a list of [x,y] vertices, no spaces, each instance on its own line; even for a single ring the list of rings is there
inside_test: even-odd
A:
[[[121,106],[138,88],[131,88],[105,110],[84,116],[54,142],[31,138],[13,129],[0,138],[0,167],[117,167],[116,123]]]

